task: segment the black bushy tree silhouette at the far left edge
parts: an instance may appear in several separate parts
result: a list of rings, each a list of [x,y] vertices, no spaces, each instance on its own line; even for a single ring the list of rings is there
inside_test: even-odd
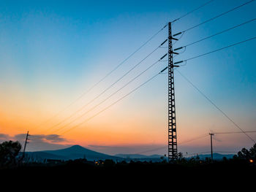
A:
[[[18,164],[20,158],[20,142],[2,142],[0,144],[0,167],[12,167]]]

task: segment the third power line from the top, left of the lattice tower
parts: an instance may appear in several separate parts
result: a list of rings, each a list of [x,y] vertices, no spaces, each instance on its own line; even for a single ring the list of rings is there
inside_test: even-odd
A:
[[[165,56],[167,55],[167,53],[162,56],[162,58],[165,58]],[[140,74],[138,74],[136,77],[132,78],[132,80],[129,80],[129,82],[127,82],[124,86],[122,86],[121,88],[119,88],[117,91],[115,91],[114,93],[112,93],[110,96],[108,96],[106,99],[104,99],[103,101],[99,102],[99,104],[95,105],[94,107],[91,107],[90,110],[87,110],[86,112],[83,112],[82,115],[78,116],[78,118],[75,118],[74,120],[72,120],[71,122],[67,123],[65,126],[62,126],[61,128],[57,129],[56,131],[59,131],[65,127],[67,127],[68,125],[70,125],[71,123],[75,122],[75,120],[78,120],[79,118],[82,118],[84,115],[86,115],[87,113],[91,112],[92,110],[94,110],[95,108],[97,108],[100,104],[104,103],[105,101],[107,101],[108,99],[110,99],[112,96],[114,96],[116,93],[118,93],[119,91],[121,91],[123,88],[125,88],[127,85],[129,85],[131,82],[133,82],[134,80],[136,80],[138,77],[140,77],[140,75],[144,74],[146,71],[148,71],[148,69],[151,69],[153,66],[155,66],[159,61],[162,60],[162,58],[160,58],[158,61],[154,62],[154,64],[151,64],[151,66],[148,66],[147,69],[145,69],[143,72],[140,72]]]

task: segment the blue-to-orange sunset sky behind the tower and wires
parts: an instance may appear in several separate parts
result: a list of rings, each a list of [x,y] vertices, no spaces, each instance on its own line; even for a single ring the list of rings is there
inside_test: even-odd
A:
[[[164,42],[167,28],[88,90],[169,21],[205,2],[1,1],[0,141],[13,139],[23,144],[29,131],[31,141],[27,150],[30,151],[82,145],[108,154],[166,154],[166,73],[91,117],[167,66],[163,59],[94,107],[167,53],[165,44],[99,96]],[[173,23],[172,32],[184,31],[244,2],[212,1]],[[253,1],[193,28],[173,47],[188,45],[252,20],[256,18],[255,9]],[[244,41],[255,37],[255,32],[254,20],[188,46],[174,61]],[[178,69],[244,131],[256,131],[255,49],[256,40],[252,40],[187,61]],[[175,72],[178,151],[210,151],[209,132],[240,131],[178,72]],[[94,110],[89,111],[91,108]],[[91,119],[86,121],[88,118]],[[255,133],[249,136],[256,140]],[[236,152],[252,145],[245,134],[214,136],[215,151]]]

